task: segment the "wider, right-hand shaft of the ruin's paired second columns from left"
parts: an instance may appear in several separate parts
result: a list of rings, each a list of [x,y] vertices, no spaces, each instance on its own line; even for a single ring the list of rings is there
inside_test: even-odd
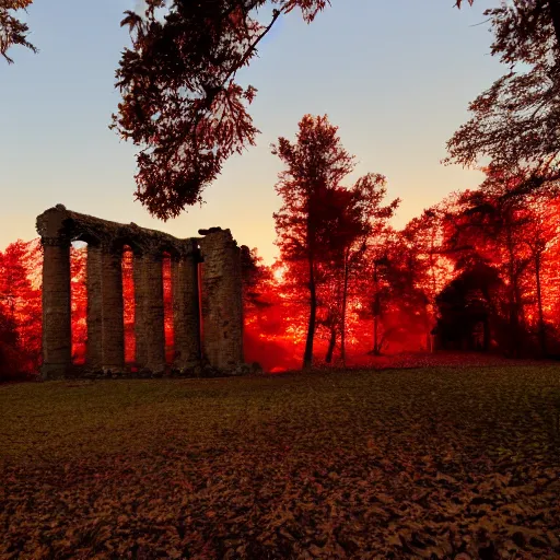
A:
[[[121,260],[120,252],[102,249],[102,366],[113,372],[125,369]]]

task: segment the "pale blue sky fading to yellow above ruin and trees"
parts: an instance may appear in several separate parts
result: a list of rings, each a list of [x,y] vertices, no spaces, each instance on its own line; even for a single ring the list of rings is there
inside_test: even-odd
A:
[[[499,0],[462,10],[454,0],[331,0],[311,25],[295,11],[281,19],[240,74],[258,90],[257,147],[228,161],[202,207],[167,222],[151,218],[133,197],[136,148],[108,129],[119,102],[115,69],[130,45],[119,22],[138,4],[35,0],[25,15],[39,54],[14,48],[14,65],[0,60],[0,249],[34,238],[36,215],[63,203],[177,237],[229,228],[271,264],[282,165],[270,144],[295,139],[307,113],[327,114],[357,156],[349,186],[368,172],[387,177],[387,200],[402,199],[396,228],[482,180],[479,171],[440,162],[468,103],[504,72],[489,55],[482,14]]]

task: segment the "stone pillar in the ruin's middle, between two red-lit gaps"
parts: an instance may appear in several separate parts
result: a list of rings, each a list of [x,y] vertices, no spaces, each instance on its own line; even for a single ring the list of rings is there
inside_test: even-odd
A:
[[[136,362],[153,373],[165,371],[163,270],[160,255],[135,258]]]

